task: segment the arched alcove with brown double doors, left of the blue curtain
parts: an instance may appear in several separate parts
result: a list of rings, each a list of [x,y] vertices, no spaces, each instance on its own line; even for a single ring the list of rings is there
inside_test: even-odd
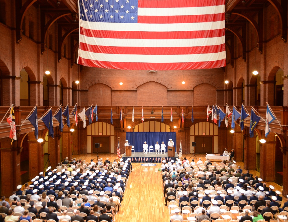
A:
[[[96,122],[88,125],[87,153],[114,153],[114,126],[109,123]],[[99,143],[99,148],[95,147]]]

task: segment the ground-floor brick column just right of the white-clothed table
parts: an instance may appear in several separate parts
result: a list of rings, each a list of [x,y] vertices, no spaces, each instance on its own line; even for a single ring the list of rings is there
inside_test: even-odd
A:
[[[245,150],[244,150],[244,169],[256,170],[256,133],[250,138],[249,135],[244,135]]]

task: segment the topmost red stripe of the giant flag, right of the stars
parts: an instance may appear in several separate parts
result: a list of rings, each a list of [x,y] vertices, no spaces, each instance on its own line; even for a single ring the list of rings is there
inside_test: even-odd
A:
[[[224,5],[225,0],[208,0],[208,1],[192,1],[192,0],[161,0],[147,1],[138,0],[138,8],[182,8],[182,7],[207,7],[215,5]]]

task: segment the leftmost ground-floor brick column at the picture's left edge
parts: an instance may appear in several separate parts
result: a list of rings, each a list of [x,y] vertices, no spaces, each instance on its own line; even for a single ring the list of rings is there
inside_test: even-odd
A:
[[[13,146],[17,146],[15,142]],[[20,148],[11,147],[11,139],[1,139],[1,196],[6,198],[20,184]]]

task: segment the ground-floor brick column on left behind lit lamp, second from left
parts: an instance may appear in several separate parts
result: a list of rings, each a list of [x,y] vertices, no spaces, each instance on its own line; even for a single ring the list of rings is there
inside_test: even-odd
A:
[[[29,180],[36,177],[39,172],[43,171],[43,144],[35,139],[34,132],[28,133],[29,136]],[[50,159],[50,158],[49,158]],[[46,166],[48,167],[48,166]]]

